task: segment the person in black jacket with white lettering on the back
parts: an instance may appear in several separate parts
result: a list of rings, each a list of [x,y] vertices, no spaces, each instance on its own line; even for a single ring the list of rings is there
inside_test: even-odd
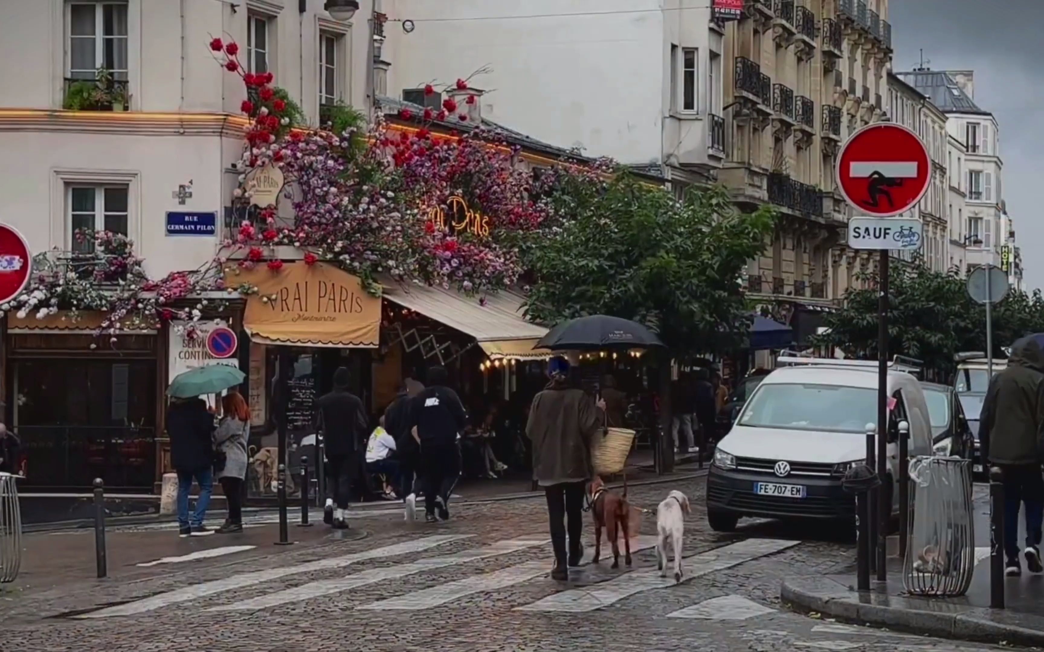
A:
[[[448,380],[445,367],[431,367],[428,387],[410,400],[409,422],[421,443],[424,511],[429,523],[450,517],[450,492],[460,475],[457,434],[468,422],[460,397],[446,386]]]

